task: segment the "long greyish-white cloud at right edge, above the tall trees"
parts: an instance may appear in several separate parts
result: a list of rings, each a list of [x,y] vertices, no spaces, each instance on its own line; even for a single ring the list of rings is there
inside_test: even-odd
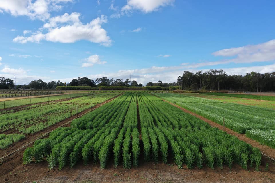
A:
[[[212,53],[215,56],[232,57],[221,62],[251,63],[275,60],[275,39],[257,45],[229,48]]]

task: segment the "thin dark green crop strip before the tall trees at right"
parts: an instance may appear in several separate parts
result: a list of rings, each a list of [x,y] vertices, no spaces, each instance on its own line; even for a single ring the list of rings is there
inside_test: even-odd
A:
[[[227,94],[227,93],[203,93],[203,94],[216,95],[216,96],[225,96],[225,97],[237,97],[237,98],[248,98],[248,99],[275,101],[275,96],[265,96],[265,95]]]

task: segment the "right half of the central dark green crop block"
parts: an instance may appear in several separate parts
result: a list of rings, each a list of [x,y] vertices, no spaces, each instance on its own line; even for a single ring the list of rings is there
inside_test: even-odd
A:
[[[202,168],[203,164],[210,168],[223,168],[224,165],[231,168],[233,163],[237,163],[246,169],[250,163],[256,164],[258,170],[260,166],[258,148],[211,128],[166,102],[139,101],[139,111],[145,160],[157,160],[160,151],[164,162],[167,154],[171,153],[178,168],[182,168],[183,164],[190,169],[194,166]]]

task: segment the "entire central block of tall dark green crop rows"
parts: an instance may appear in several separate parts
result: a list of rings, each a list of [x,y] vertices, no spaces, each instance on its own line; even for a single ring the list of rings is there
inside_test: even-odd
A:
[[[58,165],[60,170],[81,160],[99,162],[104,169],[110,158],[114,167],[122,164],[125,169],[143,160],[167,163],[171,158],[178,169],[239,164],[258,170],[261,164],[258,148],[146,93],[119,96],[75,119],[71,128],[37,140],[23,155],[25,164],[46,160],[50,169]]]

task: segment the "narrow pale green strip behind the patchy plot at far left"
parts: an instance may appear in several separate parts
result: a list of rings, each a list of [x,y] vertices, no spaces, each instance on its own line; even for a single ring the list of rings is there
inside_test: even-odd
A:
[[[74,94],[64,94],[58,96],[49,96],[49,97],[38,97],[38,98],[25,98],[25,99],[17,99],[17,100],[7,100],[0,102],[0,109],[7,109],[17,106],[25,106],[30,104],[36,104],[40,102],[48,102],[54,100],[61,100],[66,98],[78,97],[78,96],[85,96],[90,95],[90,93],[74,93]]]

